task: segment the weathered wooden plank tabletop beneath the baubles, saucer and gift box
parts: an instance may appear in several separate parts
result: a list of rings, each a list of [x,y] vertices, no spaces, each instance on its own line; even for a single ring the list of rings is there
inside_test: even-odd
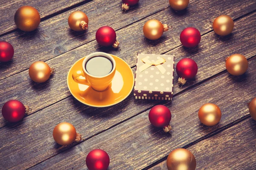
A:
[[[168,154],[182,147],[195,155],[197,170],[255,170],[256,121],[247,103],[256,97],[256,1],[190,0],[182,12],[172,10],[168,0],[140,0],[127,12],[121,12],[121,4],[121,0],[0,0],[0,40],[15,49],[12,61],[0,63],[0,107],[11,99],[32,107],[17,124],[0,116],[0,169],[86,170],[87,154],[100,148],[111,158],[109,170],[167,170]],[[15,26],[15,11],[24,5],[41,14],[33,32]],[[68,26],[67,18],[76,10],[89,17],[86,32],[73,32]],[[225,37],[216,35],[211,26],[221,14],[235,21],[232,34]],[[172,27],[159,40],[148,40],[142,29],[149,19]],[[96,30],[105,25],[116,30],[121,51],[97,44]],[[189,26],[201,32],[197,48],[180,43],[180,32]],[[66,77],[75,61],[97,51],[119,56],[134,72],[137,52],[175,55],[175,65],[192,58],[199,70],[182,89],[175,83],[172,102],[135,100],[131,94],[113,107],[88,107],[70,94]],[[238,77],[225,69],[224,58],[235,53],[249,61],[247,72]],[[28,69],[35,61],[46,61],[56,69],[55,75],[34,83]],[[198,109],[205,103],[221,108],[221,121],[214,127],[198,119]],[[149,109],[157,104],[172,112],[171,135],[148,121]],[[63,121],[73,124],[84,141],[67,147],[56,144],[52,130]]]

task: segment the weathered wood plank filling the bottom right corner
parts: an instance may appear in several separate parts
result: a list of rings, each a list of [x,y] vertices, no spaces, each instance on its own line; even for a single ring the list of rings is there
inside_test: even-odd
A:
[[[256,168],[256,121],[245,121],[188,148],[197,170],[254,170]],[[167,170],[166,161],[150,170]]]

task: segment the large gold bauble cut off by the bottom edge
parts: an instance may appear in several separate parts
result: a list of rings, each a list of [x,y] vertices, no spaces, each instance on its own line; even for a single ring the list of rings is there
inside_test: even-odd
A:
[[[166,160],[168,170],[195,170],[195,156],[186,149],[173,150]]]

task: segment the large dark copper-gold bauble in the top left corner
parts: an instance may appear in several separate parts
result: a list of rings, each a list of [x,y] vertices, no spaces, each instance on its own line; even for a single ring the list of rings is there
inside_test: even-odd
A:
[[[14,15],[16,26],[22,31],[34,31],[40,23],[40,14],[32,6],[21,6]]]

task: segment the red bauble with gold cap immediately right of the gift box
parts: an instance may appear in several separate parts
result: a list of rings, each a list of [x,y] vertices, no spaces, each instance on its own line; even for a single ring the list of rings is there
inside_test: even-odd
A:
[[[187,79],[195,77],[198,71],[197,63],[190,58],[181,59],[176,66],[176,72],[179,76],[178,83],[184,85]]]

